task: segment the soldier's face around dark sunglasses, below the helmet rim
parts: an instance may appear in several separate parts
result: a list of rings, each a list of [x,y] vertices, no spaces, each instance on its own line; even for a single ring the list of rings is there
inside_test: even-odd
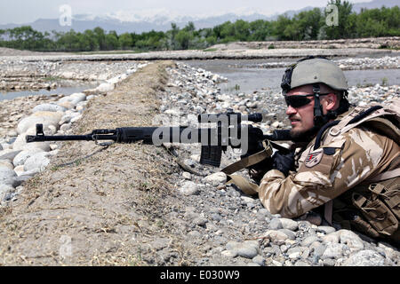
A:
[[[286,96],[313,94],[312,86],[301,86],[286,93]],[[305,106],[287,106],[286,114],[291,121],[292,135],[299,136],[314,126],[314,97],[307,97],[309,103]],[[294,105],[294,104],[293,104]]]

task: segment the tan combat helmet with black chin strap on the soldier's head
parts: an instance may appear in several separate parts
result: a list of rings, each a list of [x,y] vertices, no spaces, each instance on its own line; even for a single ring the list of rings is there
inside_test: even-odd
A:
[[[329,113],[328,116],[323,114],[319,101],[320,83],[324,83],[334,91],[339,91],[342,94],[340,109]],[[348,110],[348,82],[340,67],[330,59],[308,56],[287,67],[284,71],[281,83],[284,95],[296,87],[308,84],[313,85],[315,125],[324,124],[327,120],[335,118],[338,114]]]

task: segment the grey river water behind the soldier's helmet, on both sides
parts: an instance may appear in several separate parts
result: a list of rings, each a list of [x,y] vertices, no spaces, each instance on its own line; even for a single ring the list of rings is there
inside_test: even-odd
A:
[[[294,62],[294,59],[282,59],[282,61],[287,62],[289,65]],[[228,83],[220,83],[220,91],[222,93],[252,93],[253,91],[263,90],[280,91],[280,83],[284,75],[284,68],[249,67],[260,63],[273,62],[268,59],[213,59],[181,62],[228,78]],[[349,86],[366,86],[376,83],[393,85],[400,83],[399,69],[348,70],[344,71],[344,74],[348,79]]]

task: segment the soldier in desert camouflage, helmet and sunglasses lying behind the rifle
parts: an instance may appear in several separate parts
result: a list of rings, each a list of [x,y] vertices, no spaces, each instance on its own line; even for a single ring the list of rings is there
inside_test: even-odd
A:
[[[348,111],[343,72],[313,57],[287,68],[281,87],[292,138],[307,143],[273,155],[256,190],[265,208],[300,217],[324,205],[331,225],[399,241],[398,99]]]

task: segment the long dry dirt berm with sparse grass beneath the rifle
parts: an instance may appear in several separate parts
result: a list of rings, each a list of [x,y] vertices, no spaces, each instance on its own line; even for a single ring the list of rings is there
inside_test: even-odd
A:
[[[72,132],[151,125],[172,65],[149,64],[90,100]],[[0,264],[191,264],[196,246],[180,240],[179,226],[165,217],[179,204],[169,180],[179,167],[163,147],[61,144],[19,200],[0,211]]]

